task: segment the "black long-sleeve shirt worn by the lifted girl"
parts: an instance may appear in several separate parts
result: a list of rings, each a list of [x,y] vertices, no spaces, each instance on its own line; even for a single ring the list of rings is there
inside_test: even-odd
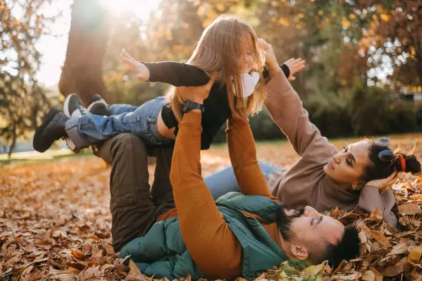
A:
[[[150,82],[161,82],[176,87],[202,86],[210,81],[210,76],[198,67],[186,63],[163,61],[159,63],[143,63],[150,70]],[[288,77],[290,70],[287,65],[281,69]],[[263,72],[264,79],[268,78],[268,72]],[[226,85],[221,81],[215,81],[210,90],[210,95],[203,101],[201,149],[209,149],[214,136],[220,127],[230,116],[230,105]],[[177,135],[177,119],[170,105],[163,107],[161,116],[165,125],[169,128],[176,127],[174,134]]]

